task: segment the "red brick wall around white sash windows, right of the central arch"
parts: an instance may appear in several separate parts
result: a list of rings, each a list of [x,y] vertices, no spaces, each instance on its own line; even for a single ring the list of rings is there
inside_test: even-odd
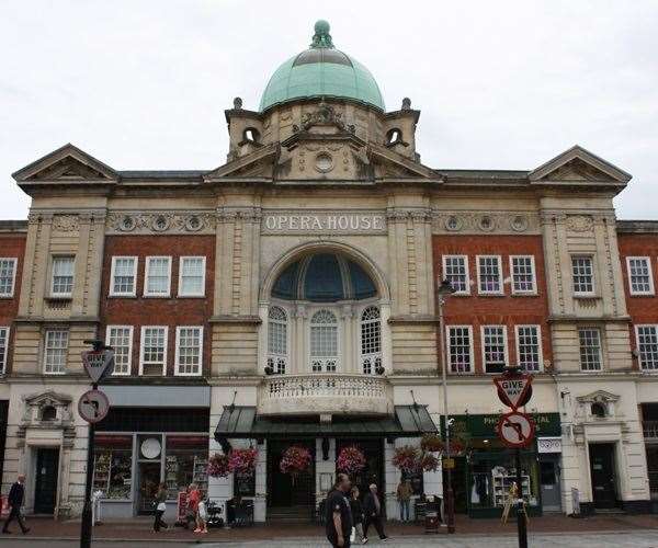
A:
[[[472,326],[475,373],[484,373],[481,326],[507,326],[509,363],[517,363],[514,326],[536,324],[542,331],[543,362],[552,362],[551,332],[547,323],[548,297],[544,274],[541,236],[434,236],[435,279],[443,278],[443,255],[467,255],[470,295],[454,295],[444,307],[445,326]],[[477,255],[500,255],[503,295],[479,295]],[[535,264],[536,295],[512,295],[510,255],[532,255]]]

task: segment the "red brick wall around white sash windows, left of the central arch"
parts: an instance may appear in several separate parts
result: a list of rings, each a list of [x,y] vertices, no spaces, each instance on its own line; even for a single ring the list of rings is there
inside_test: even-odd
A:
[[[215,279],[214,236],[111,236],[105,239],[103,282],[101,287],[100,334],[105,336],[107,326],[133,326],[131,374],[139,372],[140,329],[143,326],[167,326],[167,376],[174,375],[175,328],[204,328],[203,375],[209,375],[211,324]],[[137,256],[136,297],[110,297],[112,256]],[[171,293],[169,298],[144,297],[146,258],[171,256]],[[205,297],[179,297],[179,265],[181,256],[205,256]]]

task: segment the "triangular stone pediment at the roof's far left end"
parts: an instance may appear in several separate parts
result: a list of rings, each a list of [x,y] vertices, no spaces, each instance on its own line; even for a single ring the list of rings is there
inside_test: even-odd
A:
[[[12,175],[19,183],[114,182],[117,173],[78,147],[68,144]]]

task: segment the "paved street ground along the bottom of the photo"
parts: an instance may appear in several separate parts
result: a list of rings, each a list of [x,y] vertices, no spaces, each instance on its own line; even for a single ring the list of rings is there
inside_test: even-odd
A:
[[[31,532],[22,535],[12,524],[13,535],[0,535],[0,548],[64,548],[79,546],[80,522],[57,522],[52,518],[27,517]],[[174,527],[156,534],[150,520],[112,522],[95,526],[93,546],[101,548],[169,548],[192,547],[253,547],[283,548],[328,546],[324,528],[311,524],[254,525],[234,529],[209,529],[207,535],[195,535]],[[499,520],[470,520],[457,516],[455,535],[444,527],[438,534],[424,534],[420,525],[389,522],[385,529],[390,539],[387,547],[413,546],[445,548],[508,548],[518,547],[517,526]],[[533,517],[529,524],[531,548],[658,548],[658,515],[604,515],[571,518],[563,515]],[[371,534],[367,546],[384,546]]]

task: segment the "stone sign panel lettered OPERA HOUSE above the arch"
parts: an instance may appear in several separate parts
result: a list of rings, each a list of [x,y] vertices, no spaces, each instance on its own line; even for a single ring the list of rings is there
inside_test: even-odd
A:
[[[382,233],[386,216],[373,213],[265,213],[263,233]]]

